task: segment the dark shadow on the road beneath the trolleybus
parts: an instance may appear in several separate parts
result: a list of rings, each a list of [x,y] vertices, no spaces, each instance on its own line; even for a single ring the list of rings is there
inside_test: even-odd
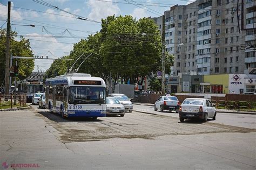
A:
[[[38,114],[48,118],[51,121],[54,122],[78,122],[78,123],[83,123],[83,122],[102,122],[100,119],[92,119],[91,117],[69,117],[69,118],[62,118],[59,114],[54,114],[50,113],[47,111],[37,111]]]

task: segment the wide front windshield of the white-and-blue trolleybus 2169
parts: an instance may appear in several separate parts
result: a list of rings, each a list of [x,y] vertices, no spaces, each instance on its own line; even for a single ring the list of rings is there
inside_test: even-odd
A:
[[[105,103],[105,87],[70,87],[70,104]]]

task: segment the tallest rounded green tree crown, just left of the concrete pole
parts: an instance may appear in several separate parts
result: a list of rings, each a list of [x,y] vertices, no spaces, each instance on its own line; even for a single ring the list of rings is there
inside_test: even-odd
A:
[[[105,40],[100,48],[104,65],[116,77],[133,82],[160,68],[161,37],[153,20],[131,16],[110,18],[104,25]],[[142,36],[142,34],[146,36]]]

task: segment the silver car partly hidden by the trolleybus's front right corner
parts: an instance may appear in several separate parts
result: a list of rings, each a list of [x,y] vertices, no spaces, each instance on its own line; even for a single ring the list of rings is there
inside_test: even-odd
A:
[[[124,105],[121,104],[117,98],[107,97],[106,99],[106,115],[120,115],[124,116]]]

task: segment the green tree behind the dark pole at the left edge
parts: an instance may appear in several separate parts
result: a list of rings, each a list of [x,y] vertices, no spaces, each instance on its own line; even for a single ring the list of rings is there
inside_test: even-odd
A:
[[[5,77],[5,47],[6,47],[6,30],[0,29],[0,65],[2,66],[0,68],[0,81],[4,81]],[[26,57],[32,57],[32,51],[30,48],[30,42],[28,39],[24,39],[23,37],[20,37],[21,40],[17,41],[15,40],[15,37],[17,37],[17,32],[11,31],[11,39],[10,39],[10,51],[13,56],[26,56]],[[32,70],[35,66],[33,60],[28,59],[14,59],[12,61],[12,65],[15,65],[16,60],[18,62],[19,66],[19,76],[18,79],[23,80],[26,77],[30,76],[32,73]]]

